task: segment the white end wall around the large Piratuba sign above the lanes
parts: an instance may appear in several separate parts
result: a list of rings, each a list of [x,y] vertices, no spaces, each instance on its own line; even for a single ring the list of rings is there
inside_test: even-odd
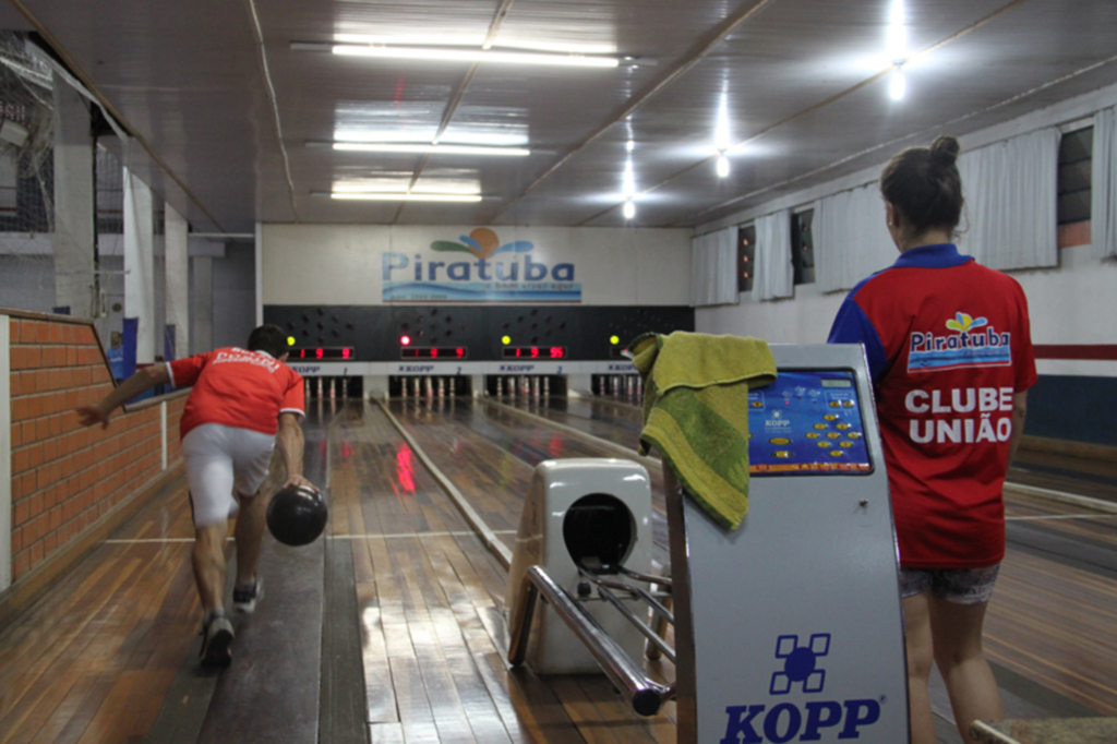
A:
[[[472,227],[378,227],[265,225],[266,305],[379,305],[383,302],[382,258],[402,254],[413,261],[476,261],[470,254],[431,250],[432,242],[458,242]],[[535,245],[533,261],[574,265],[583,305],[687,305],[690,302],[688,229],[491,228],[502,244]],[[493,260],[512,260],[500,254]],[[517,260],[523,261],[523,258]],[[413,278],[410,269],[393,278]],[[523,267],[521,267],[521,270]],[[522,276],[522,275],[521,275]]]

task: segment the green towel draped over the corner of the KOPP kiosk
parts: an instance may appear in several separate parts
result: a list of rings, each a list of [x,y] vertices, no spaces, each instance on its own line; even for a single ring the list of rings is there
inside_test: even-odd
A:
[[[748,513],[748,389],[775,380],[767,342],[681,331],[628,345],[643,378],[640,452],[656,447],[727,530]]]

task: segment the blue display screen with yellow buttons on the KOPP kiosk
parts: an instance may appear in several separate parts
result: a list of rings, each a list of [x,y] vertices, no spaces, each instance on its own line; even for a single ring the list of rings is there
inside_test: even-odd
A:
[[[780,371],[748,393],[753,474],[871,473],[852,372]]]

